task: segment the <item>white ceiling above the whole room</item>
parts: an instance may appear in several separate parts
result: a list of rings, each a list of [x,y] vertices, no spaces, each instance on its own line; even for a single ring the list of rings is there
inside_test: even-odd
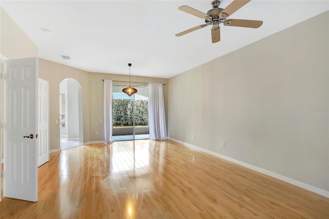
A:
[[[220,7],[231,2],[223,0]],[[175,36],[204,24],[202,19],[178,10],[179,6],[207,13],[210,3],[1,1],[1,7],[38,46],[40,58],[86,71],[123,75],[129,74],[127,63],[132,63],[132,75],[157,78],[170,78],[329,10],[328,1],[253,0],[230,18],[261,20],[264,23],[258,29],[221,25],[221,41],[215,44],[211,43],[210,26]]]

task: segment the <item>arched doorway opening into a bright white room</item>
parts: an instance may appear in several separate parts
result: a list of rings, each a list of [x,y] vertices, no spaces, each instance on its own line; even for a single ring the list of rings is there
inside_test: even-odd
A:
[[[60,83],[59,124],[61,150],[83,145],[82,86],[72,78]]]

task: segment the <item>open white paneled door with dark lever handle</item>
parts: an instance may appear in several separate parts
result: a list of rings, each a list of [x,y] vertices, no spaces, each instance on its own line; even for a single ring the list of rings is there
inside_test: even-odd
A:
[[[38,58],[5,60],[4,196],[38,200]]]

